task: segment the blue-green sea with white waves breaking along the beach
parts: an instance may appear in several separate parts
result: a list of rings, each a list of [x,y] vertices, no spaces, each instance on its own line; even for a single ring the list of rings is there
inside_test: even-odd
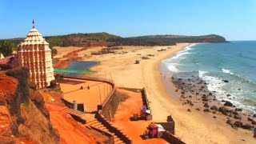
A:
[[[162,67],[171,75],[197,72],[219,101],[256,112],[256,41],[191,44]]]

